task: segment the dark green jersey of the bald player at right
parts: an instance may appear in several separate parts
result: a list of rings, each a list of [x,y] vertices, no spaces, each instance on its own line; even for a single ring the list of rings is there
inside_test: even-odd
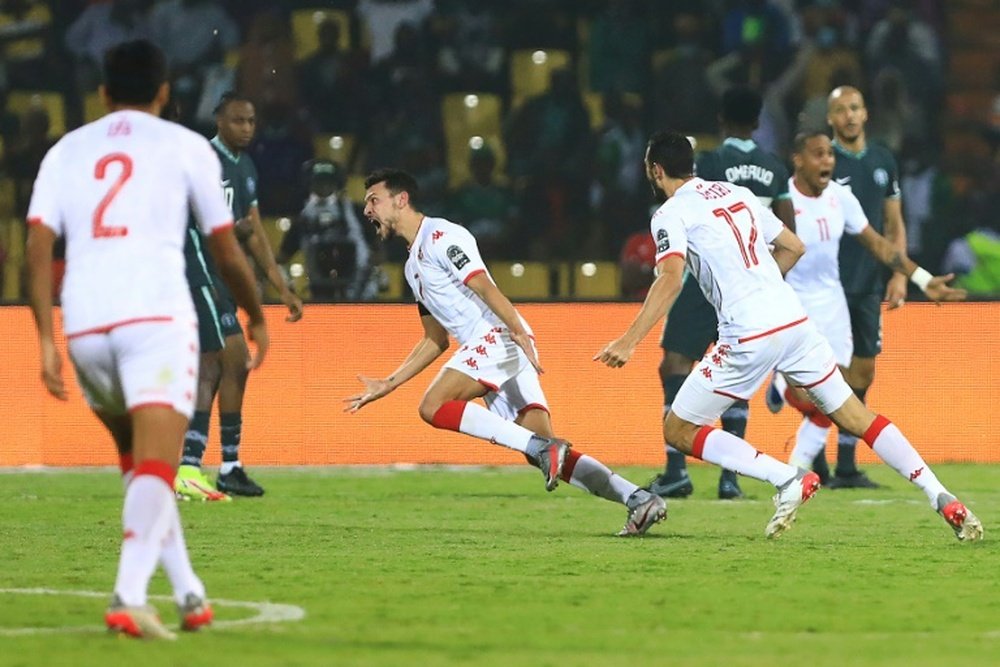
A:
[[[860,153],[852,153],[833,142],[837,165],[833,178],[847,186],[879,234],[885,233],[883,209],[886,199],[899,199],[899,170],[888,149],[869,143]],[[872,257],[857,239],[845,234],[840,241],[840,282],[847,294],[883,294],[891,271]]]

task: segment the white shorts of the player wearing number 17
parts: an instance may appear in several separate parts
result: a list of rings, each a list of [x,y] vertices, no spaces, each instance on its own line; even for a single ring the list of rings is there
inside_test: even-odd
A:
[[[722,339],[684,380],[671,410],[694,424],[713,424],[736,400],[748,400],[772,371],[802,387],[830,414],[853,393],[833,349],[806,319],[749,339]]]

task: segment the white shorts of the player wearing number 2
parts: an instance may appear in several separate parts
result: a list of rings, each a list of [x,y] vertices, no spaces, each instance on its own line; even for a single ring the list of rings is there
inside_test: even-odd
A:
[[[193,319],[136,322],[69,340],[70,360],[87,403],[110,415],[164,405],[190,419],[198,354]]]

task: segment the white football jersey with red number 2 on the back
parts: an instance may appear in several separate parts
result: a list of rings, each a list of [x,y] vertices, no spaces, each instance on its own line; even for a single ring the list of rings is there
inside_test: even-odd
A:
[[[118,111],[64,136],[35,180],[29,224],[66,239],[67,335],[146,318],[191,316],[184,239],[232,224],[208,141],[141,111]]]

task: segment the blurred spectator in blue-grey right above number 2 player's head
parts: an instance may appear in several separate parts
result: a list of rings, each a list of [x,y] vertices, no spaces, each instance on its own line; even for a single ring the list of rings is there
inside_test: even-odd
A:
[[[152,37],[149,0],[110,0],[88,5],[69,27],[66,48],[77,60],[77,85],[91,91],[100,81],[104,53],[133,39]]]

